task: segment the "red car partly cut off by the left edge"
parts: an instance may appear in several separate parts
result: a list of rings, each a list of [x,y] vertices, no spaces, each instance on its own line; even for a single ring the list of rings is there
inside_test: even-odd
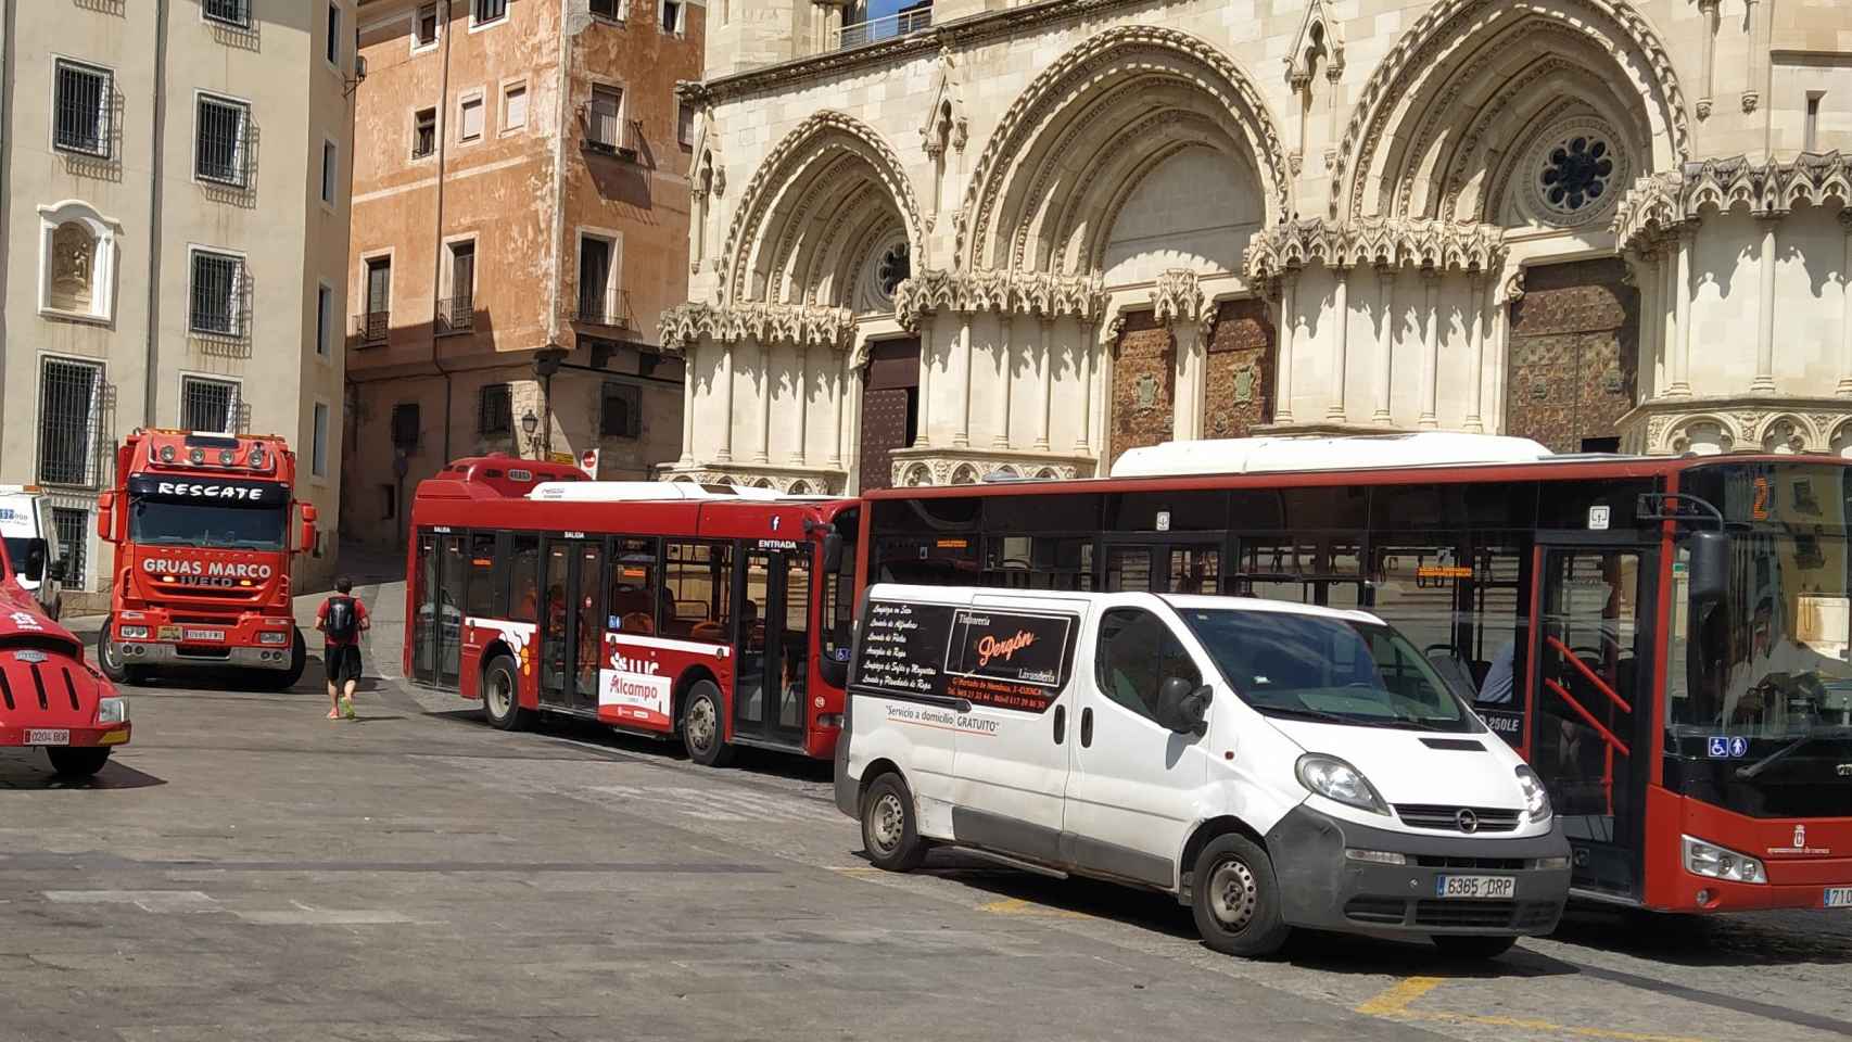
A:
[[[54,772],[89,777],[128,737],[128,701],[19,585],[0,548],[0,748],[35,746]]]

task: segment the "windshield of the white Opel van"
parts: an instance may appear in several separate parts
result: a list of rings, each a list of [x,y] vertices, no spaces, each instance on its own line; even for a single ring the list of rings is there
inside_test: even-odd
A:
[[[1265,716],[1478,731],[1446,681],[1395,629],[1313,614],[1180,609],[1235,694]]]

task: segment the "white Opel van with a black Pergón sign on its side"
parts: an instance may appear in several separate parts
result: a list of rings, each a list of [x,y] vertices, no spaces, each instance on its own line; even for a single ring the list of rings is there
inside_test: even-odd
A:
[[[848,694],[835,798],[882,868],[954,844],[1165,890],[1233,955],[1493,957],[1569,894],[1537,775],[1369,613],[876,585]]]

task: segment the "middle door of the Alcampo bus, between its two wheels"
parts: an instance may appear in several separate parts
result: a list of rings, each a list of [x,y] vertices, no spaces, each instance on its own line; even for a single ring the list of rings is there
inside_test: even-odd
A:
[[[541,703],[596,713],[604,544],[548,539],[541,568]]]

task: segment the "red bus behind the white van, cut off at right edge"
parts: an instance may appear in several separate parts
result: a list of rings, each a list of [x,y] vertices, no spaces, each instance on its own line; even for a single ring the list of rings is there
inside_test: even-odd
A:
[[[1852,461],[1261,440],[870,492],[861,574],[1374,611],[1545,777],[1578,894],[1852,914]]]

